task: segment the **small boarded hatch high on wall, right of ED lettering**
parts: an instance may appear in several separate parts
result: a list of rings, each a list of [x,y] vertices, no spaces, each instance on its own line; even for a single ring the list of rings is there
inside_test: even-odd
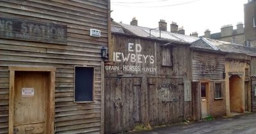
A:
[[[172,66],[172,49],[163,47],[162,66]]]

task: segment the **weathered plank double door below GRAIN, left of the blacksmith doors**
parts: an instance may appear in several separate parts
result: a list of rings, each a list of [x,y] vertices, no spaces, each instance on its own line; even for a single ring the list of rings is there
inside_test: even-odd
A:
[[[141,124],[141,78],[105,78],[105,133],[132,130]]]

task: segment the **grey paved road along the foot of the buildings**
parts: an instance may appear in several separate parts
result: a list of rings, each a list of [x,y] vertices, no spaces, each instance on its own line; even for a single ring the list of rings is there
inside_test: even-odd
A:
[[[256,134],[256,113],[238,115],[232,118],[201,121],[191,124],[177,124],[166,128],[154,128],[152,131],[138,134]],[[134,133],[132,133],[134,134]]]

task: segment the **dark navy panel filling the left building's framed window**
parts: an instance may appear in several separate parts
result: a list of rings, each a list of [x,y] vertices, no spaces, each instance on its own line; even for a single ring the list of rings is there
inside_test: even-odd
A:
[[[93,101],[94,68],[75,67],[75,101]]]

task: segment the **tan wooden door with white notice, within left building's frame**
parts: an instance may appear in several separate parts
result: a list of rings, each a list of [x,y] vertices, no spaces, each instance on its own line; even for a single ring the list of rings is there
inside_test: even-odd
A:
[[[14,133],[46,133],[44,130],[49,92],[48,78],[46,72],[15,72]]]

